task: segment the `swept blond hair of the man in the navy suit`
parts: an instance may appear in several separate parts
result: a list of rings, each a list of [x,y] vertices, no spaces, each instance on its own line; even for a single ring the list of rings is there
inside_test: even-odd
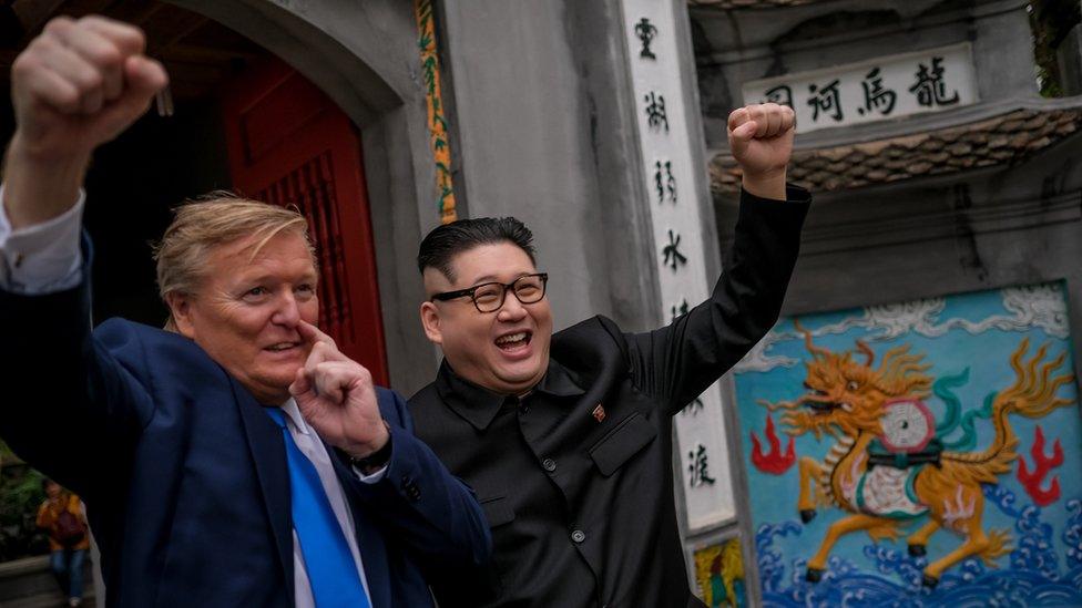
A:
[[[212,192],[184,203],[173,213],[173,223],[154,245],[157,290],[163,300],[170,293],[194,295],[205,278],[211,251],[244,238],[257,239],[251,253],[255,257],[277,234],[295,231],[304,238],[313,265],[316,262],[308,223],[295,208],[241,198],[228,192]],[[171,315],[166,329],[172,326]]]

